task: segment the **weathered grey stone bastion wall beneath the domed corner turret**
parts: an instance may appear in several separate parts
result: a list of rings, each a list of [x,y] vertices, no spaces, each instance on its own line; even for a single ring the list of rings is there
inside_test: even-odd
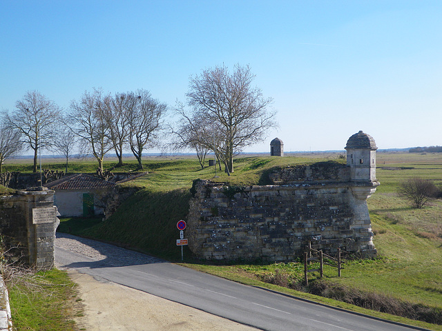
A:
[[[275,172],[270,175],[275,185],[195,182],[189,248],[202,259],[291,261],[311,241],[328,254],[340,248],[374,256],[367,198],[379,183],[371,162],[356,166],[369,167],[365,177],[352,164],[323,162]]]

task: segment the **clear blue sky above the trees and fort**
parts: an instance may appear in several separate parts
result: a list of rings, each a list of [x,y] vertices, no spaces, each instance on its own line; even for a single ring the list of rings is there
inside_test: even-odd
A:
[[[0,1],[0,109],[28,90],[144,88],[175,106],[205,68],[249,65],[280,127],[247,152],[442,145],[442,1]],[[173,118],[169,119],[173,121]]]

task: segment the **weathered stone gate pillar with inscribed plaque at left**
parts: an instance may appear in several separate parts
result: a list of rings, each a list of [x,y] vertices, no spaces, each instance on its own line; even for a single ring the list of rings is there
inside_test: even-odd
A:
[[[42,210],[54,212],[37,219]],[[33,212],[34,210],[34,212]],[[0,197],[0,233],[13,259],[48,269],[54,264],[55,229],[59,224],[54,191],[26,190]]]

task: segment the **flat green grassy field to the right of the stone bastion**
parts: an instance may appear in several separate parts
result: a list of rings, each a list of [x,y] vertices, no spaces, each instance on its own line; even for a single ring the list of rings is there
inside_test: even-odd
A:
[[[358,277],[347,279],[347,282],[363,283],[370,290],[442,308],[442,201],[433,201],[417,210],[394,194],[398,183],[407,177],[423,177],[440,184],[441,156],[380,154],[379,166],[384,166],[383,161],[386,166],[410,168],[378,169],[381,186],[368,200],[376,234],[374,243],[378,252],[390,260],[376,265],[374,270],[369,269],[368,273],[359,272]],[[352,272],[352,269],[347,271]]]

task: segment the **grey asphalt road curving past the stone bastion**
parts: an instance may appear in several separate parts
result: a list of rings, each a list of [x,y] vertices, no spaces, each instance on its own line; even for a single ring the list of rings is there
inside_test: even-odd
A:
[[[262,330],[416,330],[241,285],[113,245],[58,234],[55,262]]]

